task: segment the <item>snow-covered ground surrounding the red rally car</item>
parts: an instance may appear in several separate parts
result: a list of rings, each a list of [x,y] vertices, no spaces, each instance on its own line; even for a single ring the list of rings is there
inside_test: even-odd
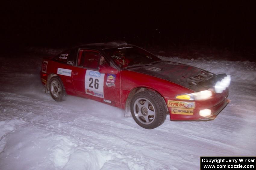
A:
[[[256,64],[160,57],[231,74],[229,103],[214,121],[166,121],[146,130],[124,110],[67,96],[40,81],[41,49],[0,56],[0,169],[199,169],[200,156],[255,156]]]

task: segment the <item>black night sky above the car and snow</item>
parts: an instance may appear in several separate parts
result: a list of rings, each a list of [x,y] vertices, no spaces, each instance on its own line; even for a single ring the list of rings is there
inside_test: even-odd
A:
[[[150,45],[255,47],[255,7],[254,1],[10,2],[1,9],[1,34],[5,46],[126,40]]]

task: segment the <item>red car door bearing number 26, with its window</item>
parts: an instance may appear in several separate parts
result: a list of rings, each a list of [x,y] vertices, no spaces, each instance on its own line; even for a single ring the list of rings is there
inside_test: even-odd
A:
[[[72,71],[76,94],[113,106],[120,103],[120,73],[100,73],[99,67],[108,67],[101,53],[94,49],[79,49],[77,64]]]

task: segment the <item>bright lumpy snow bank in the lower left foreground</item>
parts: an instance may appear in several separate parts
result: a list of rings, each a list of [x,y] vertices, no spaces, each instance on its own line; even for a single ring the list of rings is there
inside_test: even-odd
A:
[[[14,121],[12,121],[14,125]],[[6,122],[8,127],[10,122]],[[15,125],[14,125],[15,126]],[[13,126],[10,126],[13,130]],[[10,132],[10,131],[9,131]],[[7,135],[7,133],[5,134]],[[19,139],[19,140],[17,140]],[[2,146],[4,145],[4,146]],[[95,148],[70,135],[27,124],[1,140],[1,169],[157,169],[161,164],[127,156],[107,148]],[[13,162],[17,163],[13,163]]]

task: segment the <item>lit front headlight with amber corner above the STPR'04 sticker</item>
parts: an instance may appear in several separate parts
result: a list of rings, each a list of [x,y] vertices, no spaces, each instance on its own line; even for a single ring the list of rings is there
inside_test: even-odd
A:
[[[204,90],[204,91],[199,91],[195,93],[180,94],[180,95],[177,95],[175,98],[181,99],[181,100],[204,100],[204,99],[208,99],[211,96],[212,96],[212,93],[210,90]]]

